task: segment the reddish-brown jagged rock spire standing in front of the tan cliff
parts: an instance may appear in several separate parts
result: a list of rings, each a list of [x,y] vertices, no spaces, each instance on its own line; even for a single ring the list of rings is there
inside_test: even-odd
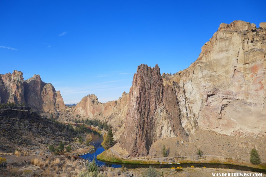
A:
[[[168,85],[163,86],[158,65],[155,68],[138,66],[129,91],[121,147],[131,156],[145,156],[159,138],[183,137],[179,114],[175,91]]]

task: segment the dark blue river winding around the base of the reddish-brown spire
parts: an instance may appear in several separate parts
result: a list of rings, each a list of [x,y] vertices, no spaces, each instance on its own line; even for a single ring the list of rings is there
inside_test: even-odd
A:
[[[104,162],[97,160],[96,157],[100,153],[104,151],[104,148],[102,147],[101,143],[103,142],[103,136],[100,135],[98,132],[95,132],[93,130],[87,129],[87,134],[89,134],[93,139],[91,140],[90,144],[95,147],[95,150],[93,150],[90,153],[87,153],[85,155],[81,155],[81,158],[93,160],[95,157],[96,163],[98,165],[105,165],[107,167],[113,167],[113,168],[120,168],[121,163],[113,163],[113,162]],[[147,168],[148,164],[123,164],[126,168]],[[266,173],[266,170],[257,169],[257,168],[251,168],[251,167],[244,167],[240,165],[230,165],[230,164],[220,164],[220,163],[182,163],[182,164],[154,164],[153,166],[156,168],[171,168],[171,167],[177,167],[181,166],[183,168],[190,167],[206,167],[206,168],[226,168],[226,169],[235,169],[235,170],[241,170],[241,171],[252,171],[257,173]]]

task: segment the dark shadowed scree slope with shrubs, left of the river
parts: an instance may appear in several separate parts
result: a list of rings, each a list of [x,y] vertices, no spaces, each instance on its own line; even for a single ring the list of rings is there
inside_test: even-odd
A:
[[[69,142],[72,137],[63,124],[56,124],[30,111],[30,107],[22,106],[0,106],[0,130],[0,151],[3,152],[15,149],[35,152],[47,149],[47,144]]]

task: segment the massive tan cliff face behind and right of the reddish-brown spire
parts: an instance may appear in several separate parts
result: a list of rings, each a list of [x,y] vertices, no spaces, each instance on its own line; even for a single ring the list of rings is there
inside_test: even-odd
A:
[[[163,75],[164,84],[176,89],[186,130],[196,130],[197,122],[228,135],[265,134],[266,30],[261,25],[220,24],[189,68]]]

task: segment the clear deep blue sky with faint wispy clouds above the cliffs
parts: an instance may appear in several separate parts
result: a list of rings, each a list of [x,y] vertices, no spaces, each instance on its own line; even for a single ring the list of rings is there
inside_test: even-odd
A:
[[[65,103],[118,99],[137,66],[176,73],[220,23],[266,21],[266,1],[0,0],[0,73],[40,74]]]

